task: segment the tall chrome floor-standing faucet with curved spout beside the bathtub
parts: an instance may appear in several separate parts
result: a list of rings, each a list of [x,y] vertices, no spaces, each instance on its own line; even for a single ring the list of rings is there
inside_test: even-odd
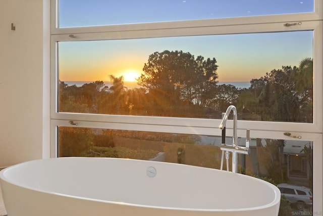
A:
[[[233,137],[232,144],[227,145],[225,143],[225,130],[226,130],[226,122],[228,120],[229,114],[233,112]],[[223,169],[223,160],[224,153],[226,154],[227,160],[227,170],[229,171],[229,152],[232,152],[232,172],[237,173],[238,170],[238,153],[240,154],[249,154],[249,140],[250,140],[250,130],[247,130],[246,134],[246,146],[239,146],[237,142],[237,123],[238,123],[238,114],[237,109],[234,105],[230,105],[226,111],[226,113],[222,114],[222,121],[220,123],[219,128],[222,129],[222,144],[220,149],[222,150],[221,157],[221,170]]]

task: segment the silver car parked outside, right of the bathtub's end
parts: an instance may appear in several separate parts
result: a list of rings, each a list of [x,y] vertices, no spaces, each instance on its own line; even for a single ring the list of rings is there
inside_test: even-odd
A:
[[[284,195],[291,204],[295,204],[297,209],[312,209],[313,192],[311,189],[292,184],[279,184],[277,187],[280,189],[281,194]]]

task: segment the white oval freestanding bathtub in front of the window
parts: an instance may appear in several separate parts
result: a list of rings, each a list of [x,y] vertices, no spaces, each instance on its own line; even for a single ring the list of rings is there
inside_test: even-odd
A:
[[[241,174],[120,158],[32,160],[0,179],[9,216],[277,216],[281,197]]]

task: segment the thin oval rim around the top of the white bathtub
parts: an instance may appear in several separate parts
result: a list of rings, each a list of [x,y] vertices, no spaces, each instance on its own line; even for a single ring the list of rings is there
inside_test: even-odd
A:
[[[176,166],[189,166],[189,167],[193,167],[193,168],[198,168],[198,169],[207,169],[207,170],[214,170],[216,172],[225,172],[227,173],[228,171],[224,171],[224,170],[218,170],[218,169],[212,169],[212,168],[205,168],[205,167],[197,167],[197,166],[192,166],[192,165],[184,165],[184,164],[174,164],[174,163],[169,163],[169,162],[161,162],[161,161],[151,161],[151,160],[140,160],[140,159],[129,159],[129,158],[115,158],[115,157],[53,157],[53,158],[44,158],[44,159],[34,159],[34,160],[28,160],[25,161],[23,163],[19,163],[17,165],[13,165],[10,167],[7,167],[3,170],[0,171],[0,186],[2,187],[1,181],[5,181],[8,184],[14,185],[14,186],[18,186],[20,188],[24,188],[24,189],[28,189],[28,190],[32,190],[32,191],[36,191],[36,192],[40,192],[40,193],[46,193],[46,194],[51,194],[51,195],[57,195],[57,196],[64,196],[64,197],[69,197],[69,198],[74,198],[74,199],[82,199],[82,200],[89,200],[89,201],[96,201],[96,202],[102,202],[102,203],[109,203],[109,204],[117,204],[117,205],[128,205],[128,206],[133,206],[133,207],[144,207],[144,208],[158,208],[158,209],[168,209],[168,210],[182,210],[182,211],[208,211],[208,212],[236,212],[236,211],[252,211],[252,210],[261,210],[261,209],[268,209],[268,208],[273,208],[275,207],[277,204],[280,203],[281,200],[281,193],[280,190],[273,185],[270,182],[266,182],[264,180],[255,178],[255,177],[251,177],[251,176],[247,176],[247,175],[243,175],[243,174],[239,174],[239,173],[232,173],[229,172],[229,175],[238,175],[238,176],[243,176],[242,178],[249,178],[250,180],[252,179],[253,181],[258,181],[261,182],[263,184],[266,184],[267,186],[269,186],[270,188],[272,188],[274,190],[274,194],[275,194],[275,199],[270,202],[267,203],[265,205],[260,205],[260,206],[255,206],[255,207],[248,207],[248,208],[184,208],[184,207],[167,207],[167,206],[157,206],[157,205],[144,205],[144,204],[134,204],[134,203],[127,203],[127,202],[118,202],[118,201],[109,201],[109,200],[103,200],[103,199],[94,199],[94,198],[87,198],[87,197],[80,197],[80,196],[74,196],[74,195],[69,195],[69,194],[64,194],[64,193],[57,193],[57,192],[52,192],[52,191],[46,191],[46,190],[42,190],[39,188],[34,188],[34,187],[30,187],[27,185],[23,185],[20,183],[15,183],[14,181],[9,180],[5,174],[8,170],[10,169],[14,169],[17,167],[21,167],[24,166],[25,164],[28,163],[37,163],[38,161],[43,161],[43,160],[56,160],[56,159],[82,159],[82,158],[91,158],[91,159],[109,159],[109,160],[138,160],[138,161],[147,161],[147,163],[165,163],[165,164],[173,164]],[[233,177],[235,178],[235,177]],[[4,190],[3,190],[4,191]],[[4,198],[5,199],[5,198]],[[6,202],[6,201],[5,201]]]

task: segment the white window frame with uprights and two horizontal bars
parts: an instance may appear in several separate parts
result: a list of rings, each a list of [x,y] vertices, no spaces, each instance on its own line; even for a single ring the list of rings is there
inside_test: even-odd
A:
[[[57,110],[58,41],[114,40],[313,30],[313,123],[238,121],[238,136],[244,137],[245,130],[250,129],[251,137],[295,139],[284,135],[284,132],[290,132],[292,136],[301,136],[302,140],[313,141],[313,170],[315,170],[313,171],[313,211],[322,214],[323,1],[315,1],[315,10],[313,13],[74,28],[58,28],[57,5],[56,0],[51,0],[51,157],[57,156],[58,126],[221,136],[221,130],[218,129],[220,120],[59,113]],[[301,25],[289,27],[284,25],[286,23],[299,22],[301,22]],[[73,37],[71,37],[71,35],[73,35]],[[69,121],[77,122],[78,126],[69,124]],[[232,127],[233,122],[228,121],[227,134],[232,134]]]

